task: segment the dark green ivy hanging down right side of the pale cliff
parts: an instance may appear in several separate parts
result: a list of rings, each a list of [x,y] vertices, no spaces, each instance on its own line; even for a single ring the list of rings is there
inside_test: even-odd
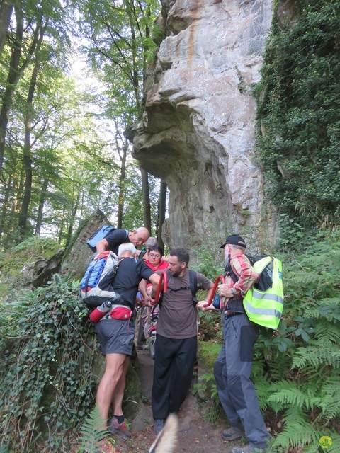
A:
[[[339,224],[340,4],[300,0],[279,23],[257,87],[267,196],[308,229]],[[297,226],[296,224],[296,226]]]

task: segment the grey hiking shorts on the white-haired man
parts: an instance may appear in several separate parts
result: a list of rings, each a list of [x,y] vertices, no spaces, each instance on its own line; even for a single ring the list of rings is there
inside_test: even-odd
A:
[[[135,324],[129,319],[103,319],[95,328],[103,354],[132,354]]]

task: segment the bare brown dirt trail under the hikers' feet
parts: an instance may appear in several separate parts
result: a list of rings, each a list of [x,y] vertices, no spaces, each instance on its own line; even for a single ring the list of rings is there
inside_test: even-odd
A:
[[[132,440],[120,441],[115,446],[119,453],[147,453],[154,441],[151,411],[151,389],[154,362],[148,351],[138,351],[142,374],[142,394],[146,401],[131,424]],[[221,432],[225,425],[215,426],[200,413],[195,396],[189,394],[179,413],[179,440],[176,453],[229,453],[234,445],[241,442],[222,440]]]

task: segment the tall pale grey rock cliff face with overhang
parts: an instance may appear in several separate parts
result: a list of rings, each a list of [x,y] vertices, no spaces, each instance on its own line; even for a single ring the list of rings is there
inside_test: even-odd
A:
[[[133,144],[142,167],[169,187],[164,242],[197,246],[211,227],[268,233],[252,90],[273,0],[169,0],[163,12],[167,37]]]

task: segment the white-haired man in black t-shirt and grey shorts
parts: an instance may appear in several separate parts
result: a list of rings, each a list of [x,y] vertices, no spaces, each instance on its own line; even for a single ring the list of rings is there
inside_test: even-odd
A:
[[[119,265],[113,280],[113,289],[120,295],[120,300],[95,324],[101,350],[106,355],[106,368],[98,386],[96,403],[105,423],[112,403],[113,418],[108,425],[108,430],[125,438],[131,435],[124,420],[122,403],[125,376],[135,336],[132,314],[138,285],[142,279],[146,279],[152,283],[156,291],[160,280],[159,275],[142,260],[136,260],[135,254],[136,249],[132,243],[119,246]],[[146,297],[146,294],[144,296]],[[106,425],[103,429],[106,429]]]

